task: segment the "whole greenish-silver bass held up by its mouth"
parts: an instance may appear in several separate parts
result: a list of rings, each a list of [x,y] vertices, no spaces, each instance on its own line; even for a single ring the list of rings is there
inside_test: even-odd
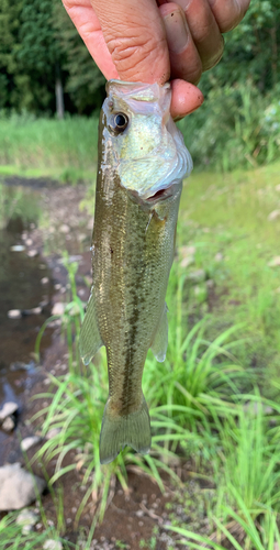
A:
[[[88,365],[107,349],[101,464],[125,446],[145,454],[152,444],[142,375],[149,348],[157,361],[166,356],[165,296],[182,178],[192,169],[170,101],[169,84],[110,80],[100,114],[92,287],[80,354]]]

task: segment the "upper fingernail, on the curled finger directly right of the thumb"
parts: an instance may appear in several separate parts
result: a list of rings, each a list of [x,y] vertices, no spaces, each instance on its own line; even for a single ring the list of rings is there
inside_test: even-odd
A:
[[[180,54],[187,46],[189,34],[184,14],[175,10],[164,18],[168,47],[171,52]]]

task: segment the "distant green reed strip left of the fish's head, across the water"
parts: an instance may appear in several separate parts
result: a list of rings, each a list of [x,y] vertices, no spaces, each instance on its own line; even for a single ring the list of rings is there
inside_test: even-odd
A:
[[[0,116],[0,174],[90,179],[97,165],[98,119]]]

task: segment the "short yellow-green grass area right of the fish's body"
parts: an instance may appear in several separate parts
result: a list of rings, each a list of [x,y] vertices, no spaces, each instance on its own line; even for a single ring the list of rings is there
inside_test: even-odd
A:
[[[184,285],[186,315],[200,318],[210,308],[214,333],[244,323],[249,340],[235,353],[246,367],[269,364],[269,375],[280,359],[280,273],[271,265],[280,218],[268,219],[280,204],[279,170],[277,163],[247,173],[193,174],[183,189],[178,235],[179,252],[186,243],[195,249],[187,274],[205,274]]]

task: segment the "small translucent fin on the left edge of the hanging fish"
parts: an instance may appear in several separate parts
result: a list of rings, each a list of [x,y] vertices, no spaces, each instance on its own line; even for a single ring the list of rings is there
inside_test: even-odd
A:
[[[94,301],[94,294],[91,290],[80,332],[80,354],[85,365],[89,364],[90,360],[103,345],[99,333]]]

